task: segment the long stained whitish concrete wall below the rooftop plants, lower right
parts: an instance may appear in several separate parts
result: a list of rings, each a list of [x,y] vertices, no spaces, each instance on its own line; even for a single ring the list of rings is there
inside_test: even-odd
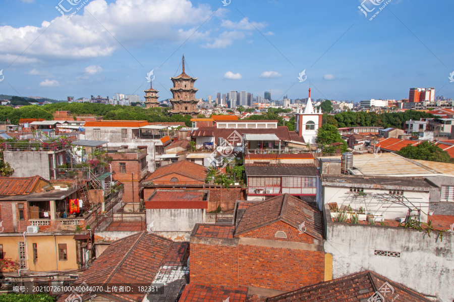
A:
[[[397,227],[333,223],[327,225],[324,248],[332,254],[333,279],[372,270],[438,301],[454,299],[454,235],[420,233]],[[400,257],[375,255],[375,250]]]

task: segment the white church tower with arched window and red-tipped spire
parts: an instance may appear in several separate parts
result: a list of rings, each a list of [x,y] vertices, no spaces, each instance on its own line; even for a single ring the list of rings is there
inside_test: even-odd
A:
[[[309,98],[304,111],[299,111],[296,115],[295,131],[302,136],[304,142],[314,144],[317,137],[318,128],[321,127],[322,113],[321,109],[315,111],[312,106],[311,88],[309,88]]]

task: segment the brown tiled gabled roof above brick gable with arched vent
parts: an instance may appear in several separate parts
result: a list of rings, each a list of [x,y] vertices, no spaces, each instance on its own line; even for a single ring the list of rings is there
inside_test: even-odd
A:
[[[235,235],[237,236],[277,221],[286,222],[295,228],[298,228],[305,221],[307,234],[316,239],[323,238],[323,222],[320,211],[290,194],[279,195],[249,206],[238,223]]]

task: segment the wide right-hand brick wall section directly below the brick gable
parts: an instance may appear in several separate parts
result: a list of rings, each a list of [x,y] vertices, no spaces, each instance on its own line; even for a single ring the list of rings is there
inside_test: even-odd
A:
[[[240,285],[290,291],[324,281],[321,251],[240,244],[239,262]]]

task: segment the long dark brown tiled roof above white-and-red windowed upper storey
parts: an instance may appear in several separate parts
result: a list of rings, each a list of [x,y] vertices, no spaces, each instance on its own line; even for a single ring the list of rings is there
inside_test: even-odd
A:
[[[247,176],[317,176],[313,164],[246,164]]]

